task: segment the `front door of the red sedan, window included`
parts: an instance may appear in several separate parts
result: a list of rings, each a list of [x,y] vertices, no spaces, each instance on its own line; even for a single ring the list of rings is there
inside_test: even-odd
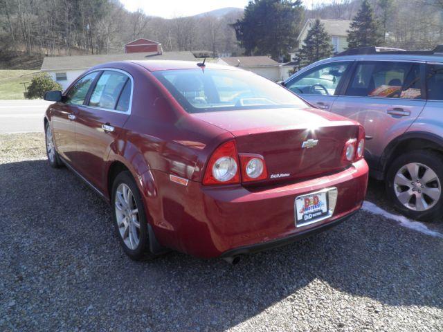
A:
[[[57,152],[69,163],[75,163],[75,118],[78,106],[82,105],[98,73],[89,73],[80,78],[64,94],[62,102],[53,107],[53,135]]]

